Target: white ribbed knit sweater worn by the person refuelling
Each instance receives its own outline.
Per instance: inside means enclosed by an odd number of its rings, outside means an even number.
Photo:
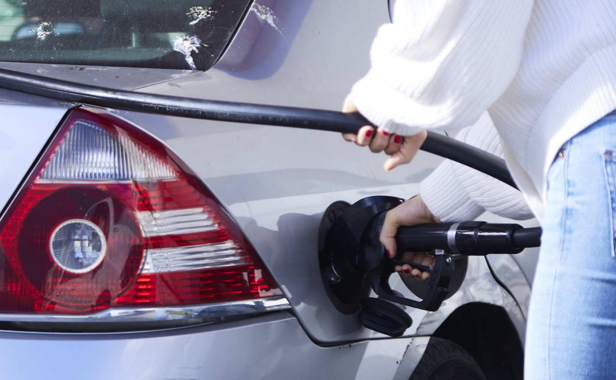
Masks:
[[[470,126],[458,139],[504,155],[541,218],[559,148],[616,108],[616,1],[395,0],[392,7],[394,22],[379,29],[371,69],[352,89],[359,111],[402,135]],[[443,220],[486,209],[530,216],[506,185],[449,161],[422,182],[421,195]]]

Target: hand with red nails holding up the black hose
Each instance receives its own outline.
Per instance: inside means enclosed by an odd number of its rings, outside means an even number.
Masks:
[[[357,107],[351,99],[351,95],[347,95],[342,105],[342,112],[354,113],[357,112]],[[359,132],[355,134],[342,134],[342,137],[354,142],[360,147],[369,147],[371,152],[385,152],[391,157],[385,161],[384,169],[390,171],[396,166],[410,163],[421,144],[426,140],[426,131],[419,132],[416,135],[402,137],[396,134],[389,134],[383,128],[375,129],[371,126],[363,126]]]

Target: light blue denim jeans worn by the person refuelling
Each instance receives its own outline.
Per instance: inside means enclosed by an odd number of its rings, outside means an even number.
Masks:
[[[616,113],[562,147],[548,173],[524,378],[616,378]]]

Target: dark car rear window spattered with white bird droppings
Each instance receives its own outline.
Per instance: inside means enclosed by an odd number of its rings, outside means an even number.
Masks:
[[[0,61],[207,70],[250,0],[0,0]]]

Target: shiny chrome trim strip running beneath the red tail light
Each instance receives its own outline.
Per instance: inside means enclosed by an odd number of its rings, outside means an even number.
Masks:
[[[2,314],[0,321],[15,322],[152,322],[171,320],[220,321],[225,317],[251,315],[291,309],[284,296],[267,297],[246,301],[222,302],[219,304],[187,307],[152,307],[133,309],[108,309],[88,315]]]

